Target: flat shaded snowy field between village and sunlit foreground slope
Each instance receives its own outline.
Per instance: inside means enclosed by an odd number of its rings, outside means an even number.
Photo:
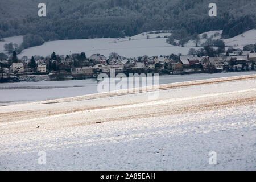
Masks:
[[[164,75],[159,76],[159,84],[170,84],[181,81],[203,80],[208,78],[220,78],[238,75],[250,75],[254,73],[256,72]],[[97,81],[94,79],[16,82],[0,84],[0,106],[93,94],[97,93],[97,85]]]

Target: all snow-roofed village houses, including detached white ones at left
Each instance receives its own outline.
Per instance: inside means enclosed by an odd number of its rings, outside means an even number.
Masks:
[[[90,61],[89,61],[90,60]],[[48,61],[48,62],[47,62]],[[12,63],[10,68],[5,68],[5,73],[46,73],[47,64],[50,60],[37,60],[37,67],[34,70],[28,67],[28,63]],[[180,55],[179,60],[173,60],[169,56],[161,57],[138,57],[129,58],[118,57],[109,59],[100,54],[94,54],[89,59],[84,60],[80,67],[74,67],[73,59],[64,59],[60,61],[50,61],[50,63],[58,64],[60,70],[69,68],[72,77],[74,78],[88,78],[97,77],[100,73],[110,73],[114,69],[116,73],[119,72],[155,72],[169,71],[172,73],[183,73],[189,71],[207,71],[207,69],[214,69],[217,72],[224,70],[240,71],[243,69],[254,69],[256,63],[256,53],[247,53],[247,55],[232,55],[221,57],[198,57],[197,55]],[[94,64],[95,63],[95,64]]]

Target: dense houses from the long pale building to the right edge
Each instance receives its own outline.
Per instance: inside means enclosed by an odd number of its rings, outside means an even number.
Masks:
[[[92,57],[91,57],[92,58]],[[105,57],[104,57],[105,58]],[[109,73],[111,69],[118,72],[144,72],[154,71],[156,67],[159,69],[167,69],[172,73],[182,73],[187,71],[207,71],[214,69],[216,72],[222,72],[226,68],[233,71],[241,71],[247,68],[253,70],[256,63],[256,53],[248,53],[240,56],[222,56],[222,57],[198,57],[197,55],[181,55],[179,61],[174,61],[170,57],[146,57],[138,59],[112,59],[109,64],[100,55],[93,56],[93,59],[101,64],[92,67],[72,68],[73,77],[96,77],[99,73]],[[106,58],[105,58],[106,59]]]

